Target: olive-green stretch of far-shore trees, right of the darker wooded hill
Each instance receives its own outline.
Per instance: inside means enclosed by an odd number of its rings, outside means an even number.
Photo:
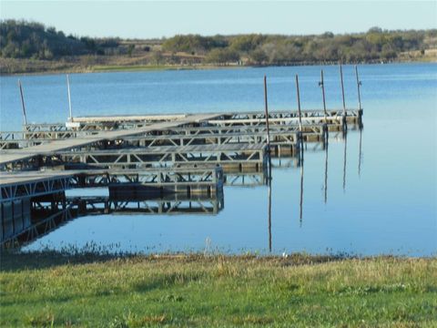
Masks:
[[[170,52],[206,54],[208,62],[245,59],[249,65],[391,61],[401,52],[420,50],[424,53],[435,47],[436,29],[386,31],[380,27],[350,35],[326,32],[313,36],[174,36],[163,43],[163,48]]]

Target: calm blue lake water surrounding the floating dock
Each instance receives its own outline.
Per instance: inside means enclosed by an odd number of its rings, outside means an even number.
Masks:
[[[75,116],[321,108],[321,67],[266,67],[71,75]],[[330,138],[303,167],[272,172],[269,188],[225,187],[217,215],[100,215],[68,222],[25,250],[94,244],[116,251],[219,250],[282,253],[437,253],[437,65],[359,67],[362,133]],[[324,67],[328,108],[341,107],[338,67]],[[346,104],[357,108],[353,67],[343,67]],[[66,121],[64,75],[20,77],[30,122]],[[17,77],[1,77],[0,128],[20,129]],[[332,134],[331,134],[332,135]],[[361,138],[361,157],[360,157]],[[345,147],[346,146],[346,147]],[[309,145],[311,148],[311,145]],[[98,190],[89,190],[93,193]],[[71,194],[74,192],[72,191]]]

